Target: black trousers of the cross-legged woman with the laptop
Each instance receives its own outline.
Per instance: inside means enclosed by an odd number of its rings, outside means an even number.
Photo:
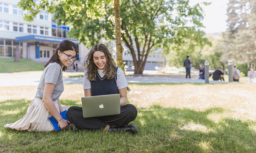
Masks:
[[[115,128],[129,124],[137,117],[137,109],[132,104],[126,104],[120,107],[120,114],[118,115],[84,118],[82,107],[72,106],[68,109],[66,116],[79,129],[98,130],[107,125]]]

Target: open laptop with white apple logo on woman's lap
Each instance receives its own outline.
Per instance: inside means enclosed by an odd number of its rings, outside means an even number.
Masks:
[[[120,114],[120,94],[82,97],[84,118]]]

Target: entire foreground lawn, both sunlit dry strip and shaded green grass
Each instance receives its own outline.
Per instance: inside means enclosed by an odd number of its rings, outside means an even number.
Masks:
[[[129,84],[139,134],[72,129],[5,129],[20,119],[37,86],[0,87],[0,152],[256,152],[255,84]],[[83,84],[60,102],[81,106]]]

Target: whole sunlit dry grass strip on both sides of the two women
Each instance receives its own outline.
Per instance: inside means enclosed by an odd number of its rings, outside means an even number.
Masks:
[[[210,114],[216,122],[224,116],[255,120],[255,84],[177,84],[177,85],[129,85],[128,99],[137,108],[152,105],[189,108],[205,111],[221,107],[230,111]],[[33,100],[37,86],[0,87],[0,101],[8,99]],[[83,84],[65,84],[60,99],[78,100],[84,96]]]

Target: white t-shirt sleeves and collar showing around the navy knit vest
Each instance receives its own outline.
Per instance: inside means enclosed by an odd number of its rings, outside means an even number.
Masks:
[[[98,69],[98,73],[99,73],[100,77],[104,77],[104,75],[105,75],[103,73],[103,70],[100,70],[100,69]],[[121,68],[119,68],[119,67],[117,68],[116,75],[117,75],[117,80],[116,80],[117,88],[123,89],[125,87],[128,87],[127,80],[126,80],[126,78],[124,76],[124,72]],[[91,89],[91,82],[86,77],[87,76],[85,76],[85,72],[84,72],[84,89]]]

